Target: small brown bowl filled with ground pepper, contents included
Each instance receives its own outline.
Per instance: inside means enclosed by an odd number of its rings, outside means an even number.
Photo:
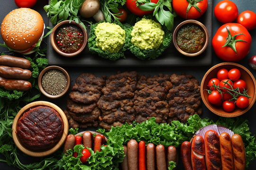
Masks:
[[[39,74],[38,87],[48,98],[62,97],[70,87],[70,76],[64,68],[49,66]]]

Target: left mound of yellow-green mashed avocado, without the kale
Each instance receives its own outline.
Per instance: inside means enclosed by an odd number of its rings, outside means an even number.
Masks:
[[[96,46],[110,53],[119,52],[125,42],[125,30],[119,25],[103,22],[95,28]]]

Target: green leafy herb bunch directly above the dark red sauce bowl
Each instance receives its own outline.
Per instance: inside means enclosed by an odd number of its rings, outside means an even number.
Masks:
[[[64,20],[73,20],[75,23],[79,23],[86,30],[86,26],[80,20],[78,16],[79,8],[82,6],[84,0],[51,0],[50,5],[44,7],[47,12],[47,16],[50,17],[50,21],[53,25],[58,24]]]

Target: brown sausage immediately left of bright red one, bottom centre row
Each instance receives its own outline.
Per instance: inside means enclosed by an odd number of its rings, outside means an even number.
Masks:
[[[136,140],[131,139],[127,143],[127,159],[128,159],[128,169],[138,170],[138,143]]]

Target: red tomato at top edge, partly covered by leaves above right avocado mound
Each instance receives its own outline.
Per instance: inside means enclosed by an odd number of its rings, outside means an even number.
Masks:
[[[137,16],[144,16],[144,15],[147,15],[147,14],[151,14],[154,10],[151,10],[151,11],[144,11],[142,9],[140,9],[139,7],[137,7],[137,4],[136,4],[136,1],[137,0],[127,0],[126,1],[126,7],[129,9],[129,11],[131,11],[133,14],[137,15]],[[151,0],[151,2],[153,3],[157,3],[158,0]]]

